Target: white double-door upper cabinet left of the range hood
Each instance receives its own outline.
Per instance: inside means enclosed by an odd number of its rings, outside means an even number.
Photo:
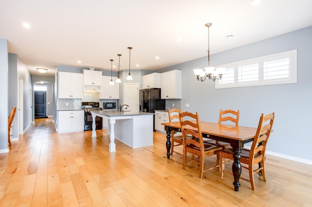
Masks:
[[[73,72],[59,72],[59,99],[82,99],[83,75]]]

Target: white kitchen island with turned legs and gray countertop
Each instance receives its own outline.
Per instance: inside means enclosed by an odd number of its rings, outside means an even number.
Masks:
[[[116,151],[115,138],[132,148],[153,145],[153,113],[91,111],[91,115],[92,137],[97,137],[96,116],[109,120],[110,152]]]

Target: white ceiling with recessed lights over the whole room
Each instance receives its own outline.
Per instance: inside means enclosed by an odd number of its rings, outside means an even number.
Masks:
[[[0,38],[33,75],[53,76],[58,65],[110,70],[117,54],[129,69],[128,47],[131,69],[156,70],[207,56],[208,22],[213,54],[310,26],[311,8],[312,0],[0,0]]]

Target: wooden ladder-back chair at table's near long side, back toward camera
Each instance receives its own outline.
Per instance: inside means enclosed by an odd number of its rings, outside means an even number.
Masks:
[[[204,172],[214,168],[212,167],[209,169],[204,169],[205,156],[216,155],[220,150],[222,150],[222,147],[204,143],[203,136],[201,134],[198,112],[196,112],[196,114],[190,112],[181,112],[179,113],[179,119],[183,137],[182,169],[185,170],[186,160],[195,162],[200,165],[199,177],[202,178]],[[187,136],[192,136],[193,138],[187,139]],[[198,158],[194,159],[188,157],[188,153],[197,155]]]

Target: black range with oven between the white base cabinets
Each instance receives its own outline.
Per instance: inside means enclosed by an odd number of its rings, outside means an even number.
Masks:
[[[92,115],[91,111],[101,111],[103,108],[98,107],[98,102],[82,102],[82,108],[84,109],[84,131],[92,130]],[[96,117],[96,129],[102,129],[102,118]]]

